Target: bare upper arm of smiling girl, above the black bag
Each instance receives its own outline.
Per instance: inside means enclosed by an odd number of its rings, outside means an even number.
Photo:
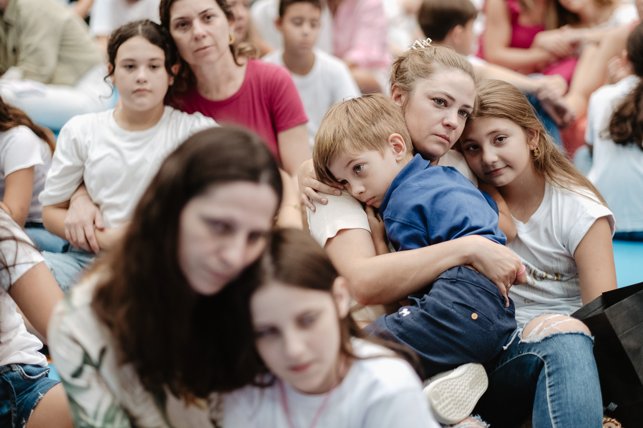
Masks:
[[[581,280],[583,305],[604,291],[617,287],[611,230],[607,218],[597,219],[590,227],[576,247],[574,260]]]

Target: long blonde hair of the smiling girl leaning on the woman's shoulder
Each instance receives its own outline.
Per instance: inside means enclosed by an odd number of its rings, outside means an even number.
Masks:
[[[579,193],[578,187],[587,189],[596,201],[607,206],[601,193],[592,182],[576,169],[574,164],[561,153],[545,126],[539,121],[534,108],[518,88],[502,80],[486,80],[478,88],[478,106],[467,125],[480,117],[502,117],[518,124],[523,129],[538,131],[538,156],[532,158],[534,168],[552,185]]]

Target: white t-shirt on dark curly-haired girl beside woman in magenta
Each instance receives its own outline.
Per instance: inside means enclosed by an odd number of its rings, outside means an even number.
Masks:
[[[118,126],[114,109],[72,117],[60,130],[40,201],[68,201],[84,180],[105,227],[118,227],[131,218],[167,155],[190,135],[212,126],[217,124],[211,117],[168,106],[158,123],[144,131]]]

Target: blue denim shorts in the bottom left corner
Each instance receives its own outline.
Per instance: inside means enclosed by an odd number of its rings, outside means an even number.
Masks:
[[[57,383],[49,378],[49,366],[1,366],[0,427],[23,428],[42,396]]]

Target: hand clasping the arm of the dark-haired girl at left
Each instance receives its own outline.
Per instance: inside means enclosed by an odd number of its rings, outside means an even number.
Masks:
[[[96,229],[104,230],[105,223],[103,214],[89,198],[89,194],[81,194],[73,199],[69,204],[64,225],[65,239],[70,244],[89,252],[100,251],[94,225]]]

